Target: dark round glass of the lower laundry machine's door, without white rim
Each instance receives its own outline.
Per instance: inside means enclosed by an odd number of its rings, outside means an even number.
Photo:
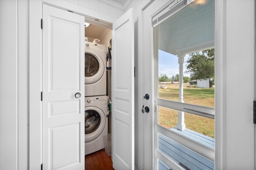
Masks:
[[[100,114],[95,110],[86,110],[84,113],[84,133],[93,133],[100,126]]]

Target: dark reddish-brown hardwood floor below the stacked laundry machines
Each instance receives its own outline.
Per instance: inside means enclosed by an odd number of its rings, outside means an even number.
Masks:
[[[85,170],[114,170],[111,156],[108,156],[104,149],[87,154],[84,163]]]

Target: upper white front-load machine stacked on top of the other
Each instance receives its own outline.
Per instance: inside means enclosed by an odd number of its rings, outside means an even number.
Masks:
[[[86,96],[106,95],[106,46],[85,42],[84,92]]]

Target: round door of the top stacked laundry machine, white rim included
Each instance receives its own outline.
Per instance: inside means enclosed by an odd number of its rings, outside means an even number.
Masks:
[[[84,83],[92,84],[100,80],[104,74],[104,62],[100,55],[91,50],[85,50]]]

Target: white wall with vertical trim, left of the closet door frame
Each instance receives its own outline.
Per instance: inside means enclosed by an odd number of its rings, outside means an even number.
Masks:
[[[28,0],[0,0],[0,37],[0,169],[22,170],[28,164]]]

